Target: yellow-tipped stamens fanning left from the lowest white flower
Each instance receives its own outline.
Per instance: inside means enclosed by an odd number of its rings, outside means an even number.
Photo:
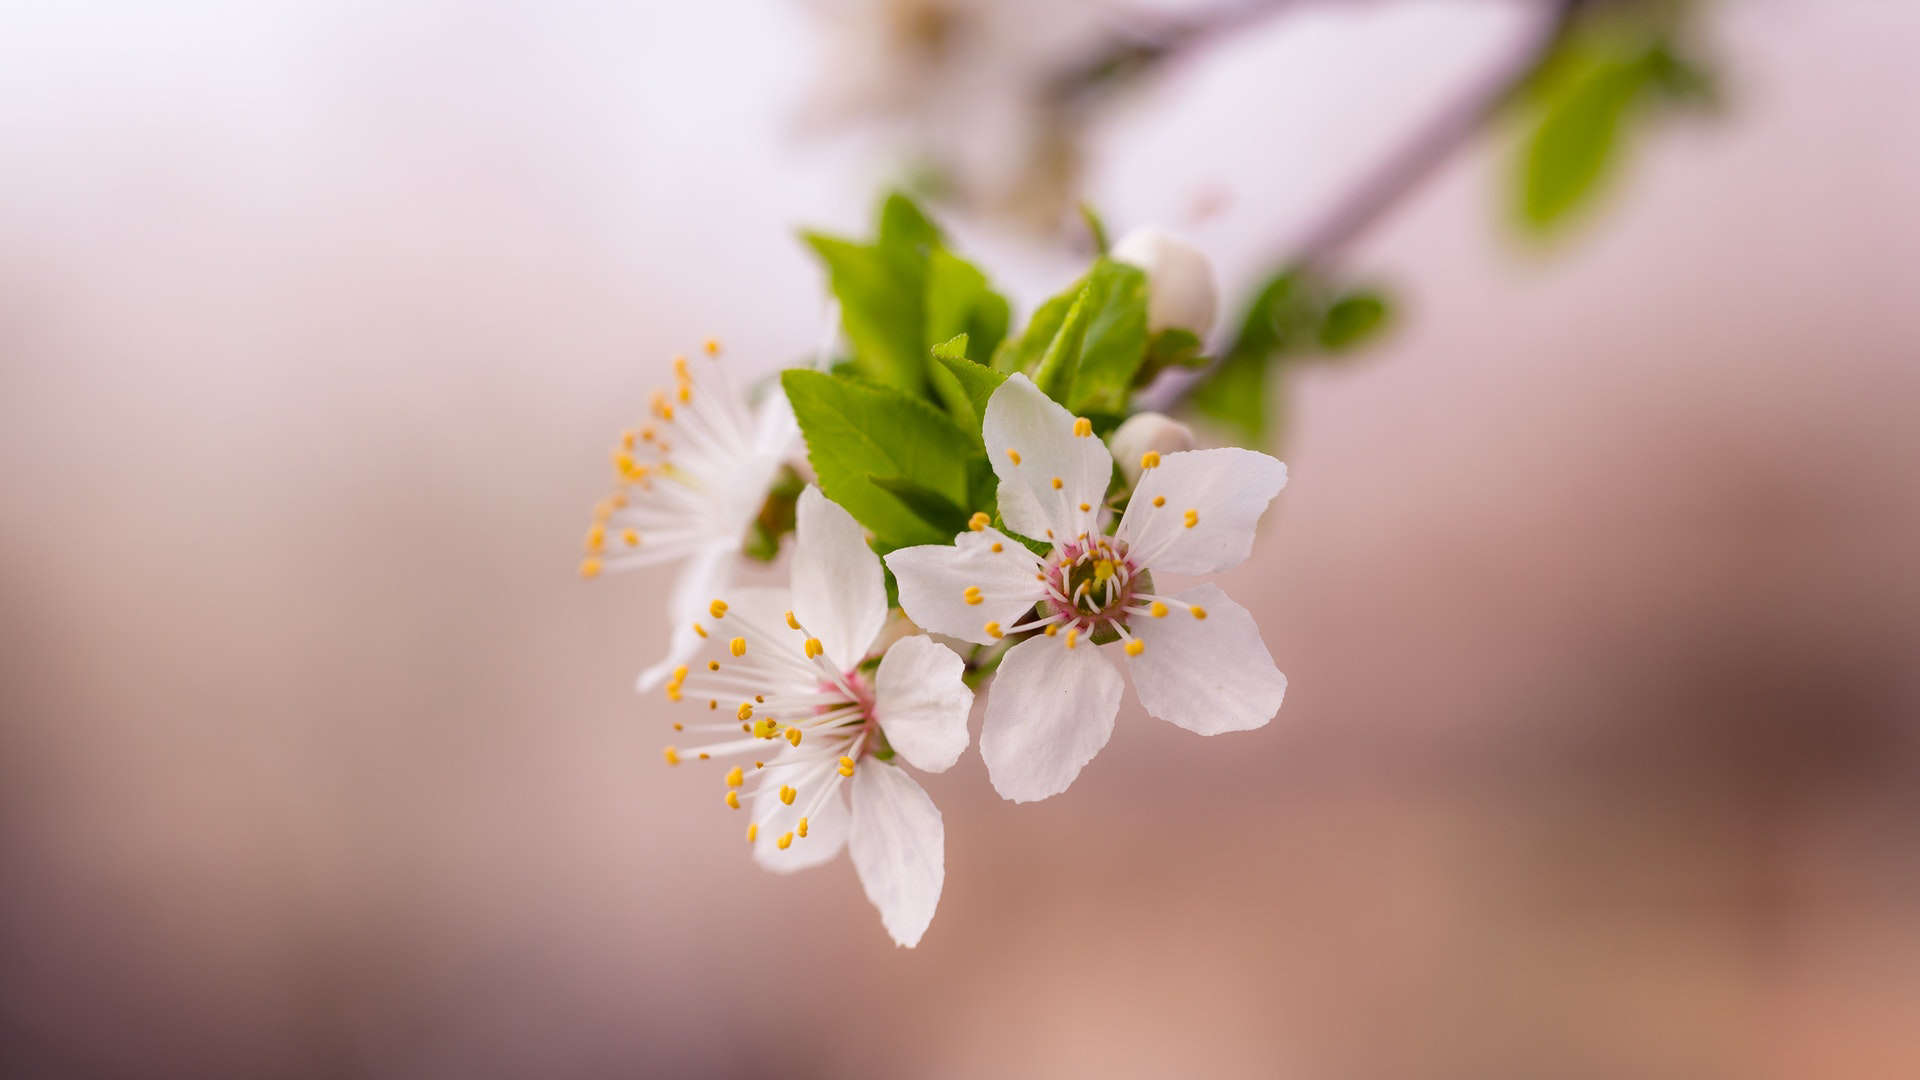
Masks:
[[[795,805],[804,792],[808,801],[793,830],[774,844],[785,851],[797,838],[804,840],[808,819],[851,780],[856,763],[885,748],[874,717],[872,686],[858,671],[839,671],[820,644],[806,632],[793,611],[785,626],[768,626],[749,615],[730,609],[726,601],[708,605],[714,630],[695,623],[701,638],[718,636],[724,628],[728,659],[708,659],[701,669],[682,665],[666,682],[668,701],[705,701],[708,713],[720,713],[724,701],[737,701],[733,719],[707,723],[674,723],[676,732],[739,732],[739,738],[664,751],[668,765],[680,765],[687,755],[708,761],[714,757],[753,757],[766,751],[774,740],[785,740],[787,751],[768,761],[753,761],[749,773],[735,765],[726,774],[726,805],[739,809],[741,790],[778,784],[783,805]],[[760,838],[760,824],[747,826],[747,842]]]

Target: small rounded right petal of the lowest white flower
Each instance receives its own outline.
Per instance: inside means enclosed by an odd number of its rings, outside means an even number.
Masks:
[[[966,753],[973,690],[966,661],[927,636],[900,638],[874,675],[874,715],[893,749],[914,769],[945,773]]]

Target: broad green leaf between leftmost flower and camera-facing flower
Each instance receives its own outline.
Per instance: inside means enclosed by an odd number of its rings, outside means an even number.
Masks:
[[[883,548],[945,544],[952,532],[922,519],[872,477],[893,477],[966,505],[979,448],[920,398],[820,371],[781,373],[820,490],[874,530]]]

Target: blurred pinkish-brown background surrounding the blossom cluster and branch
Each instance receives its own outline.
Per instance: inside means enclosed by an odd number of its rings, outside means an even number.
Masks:
[[[931,778],[900,951],[660,767],[666,577],[574,575],[674,352],[820,340],[866,8],[0,4],[6,1072],[1920,1074],[1920,13],[1720,4],[1563,242],[1496,131],[1350,250],[1398,327],[1223,582],[1281,717]],[[1083,190],[1238,302],[1523,8],[1235,33]],[[1083,258],[948,223],[1021,311]]]

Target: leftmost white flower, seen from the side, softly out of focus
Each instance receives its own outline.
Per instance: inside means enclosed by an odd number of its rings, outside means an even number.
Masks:
[[[785,394],[756,409],[733,390],[720,344],[701,350],[699,373],[674,357],[674,390],[655,390],[651,415],[620,432],[612,452],[614,492],[593,507],[580,577],[678,563],[668,598],[676,626],[666,657],[639,675],[659,686],[699,646],[693,619],[733,578],[747,532],[768,486],[793,454],[799,427]]]

